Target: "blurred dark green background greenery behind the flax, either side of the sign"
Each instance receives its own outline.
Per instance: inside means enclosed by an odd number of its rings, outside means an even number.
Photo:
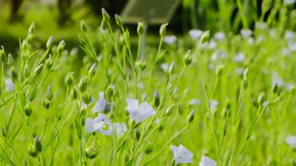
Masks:
[[[97,34],[97,27],[101,23],[101,8],[105,8],[112,17],[120,14],[127,2],[128,0],[0,0],[0,45],[9,52],[16,53],[19,38],[26,36],[28,27],[35,21],[35,38],[39,41],[35,43],[37,48],[45,46],[50,35],[54,36],[55,43],[65,40],[67,48],[77,47],[81,19],[89,24],[93,34]],[[286,3],[292,5],[282,8]],[[238,33],[242,28],[253,29],[258,21],[265,21],[268,26],[281,25],[282,30],[295,30],[295,8],[295,0],[180,0],[177,10],[169,20],[168,34],[183,35],[190,29],[210,30],[212,34],[220,31]],[[136,29],[136,25],[126,26],[131,29],[130,32],[136,32],[132,30]],[[159,25],[148,27],[148,44],[158,42],[158,30]],[[134,37],[135,40],[131,42],[136,43],[136,35]]]

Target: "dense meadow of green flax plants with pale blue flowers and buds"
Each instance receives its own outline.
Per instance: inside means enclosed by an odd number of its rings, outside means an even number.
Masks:
[[[72,50],[54,34],[37,50],[34,22],[17,55],[1,47],[0,166],[296,165],[294,32],[261,21],[177,38],[163,24],[142,55],[143,22],[132,48],[102,15]]]

